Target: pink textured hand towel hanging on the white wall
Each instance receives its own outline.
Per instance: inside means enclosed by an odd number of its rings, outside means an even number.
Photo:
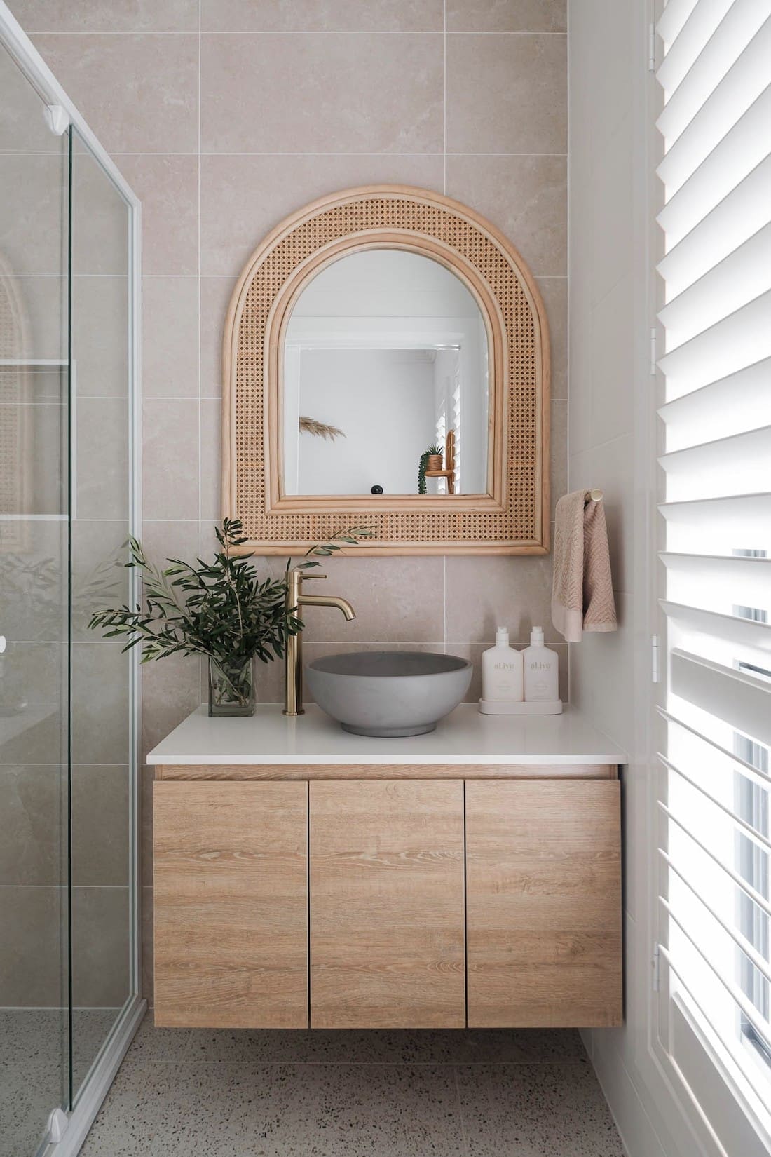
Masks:
[[[554,532],[551,621],[569,643],[585,631],[615,631],[605,506],[573,491],[557,502]]]

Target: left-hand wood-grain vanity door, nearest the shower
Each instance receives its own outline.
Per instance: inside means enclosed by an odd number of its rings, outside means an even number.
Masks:
[[[155,1023],[307,1027],[307,783],[160,782]]]

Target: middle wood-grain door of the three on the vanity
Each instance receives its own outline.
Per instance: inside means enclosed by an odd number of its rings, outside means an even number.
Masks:
[[[462,782],[313,782],[310,824],[311,1027],[464,1027]]]

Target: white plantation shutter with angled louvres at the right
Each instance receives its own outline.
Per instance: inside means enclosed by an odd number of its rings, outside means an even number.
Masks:
[[[669,0],[657,32],[659,1041],[749,1157],[771,1137],[771,0]]]

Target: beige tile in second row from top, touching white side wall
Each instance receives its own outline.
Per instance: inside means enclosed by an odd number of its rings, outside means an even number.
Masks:
[[[565,40],[447,37],[447,150],[565,153]]]

